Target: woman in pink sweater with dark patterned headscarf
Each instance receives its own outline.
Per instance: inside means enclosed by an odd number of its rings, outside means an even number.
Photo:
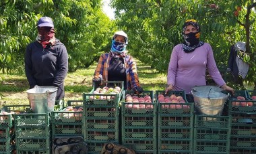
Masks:
[[[185,90],[191,93],[194,86],[206,85],[206,68],[216,84],[234,94],[233,88],[224,82],[210,44],[199,41],[200,27],[194,19],[185,21],[183,25],[183,44],[174,46],[168,66],[166,92],[169,90]]]

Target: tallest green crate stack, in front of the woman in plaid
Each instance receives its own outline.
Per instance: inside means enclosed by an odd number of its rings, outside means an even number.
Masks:
[[[108,92],[94,92],[97,88],[108,89]],[[100,86],[94,85],[92,92],[83,94],[83,135],[88,144],[88,153],[100,153],[104,143],[119,143],[119,103],[122,96],[123,82],[121,81],[108,81]]]

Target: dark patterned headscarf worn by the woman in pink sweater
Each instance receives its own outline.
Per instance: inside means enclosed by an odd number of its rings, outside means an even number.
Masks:
[[[185,34],[185,30],[188,25],[193,25],[197,29],[197,32],[195,33],[191,32],[191,33]],[[193,52],[196,48],[203,46],[204,42],[199,41],[200,31],[201,31],[200,26],[195,19],[189,19],[185,21],[185,23],[183,24],[183,31],[182,31],[182,35],[184,38],[183,50],[185,52],[187,53]]]

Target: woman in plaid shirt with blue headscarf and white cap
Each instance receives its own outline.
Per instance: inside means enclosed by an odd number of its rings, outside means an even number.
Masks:
[[[102,81],[123,81],[124,89],[143,92],[139,84],[135,60],[127,54],[128,37],[124,31],[117,31],[113,35],[111,50],[102,54],[98,60],[94,78],[96,84]]]

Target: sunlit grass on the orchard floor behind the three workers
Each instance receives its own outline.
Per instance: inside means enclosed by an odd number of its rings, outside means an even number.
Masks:
[[[84,92],[92,90],[92,77],[96,63],[86,69],[68,73],[65,78],[65,102],[67,100],[82,100]],[[143,90],[164,90],[166,86],[166,74],[160,74],[137,61],[139,82]],[[25,75],[0,73],[0,105],[5,104],[29,104],[26,90],[29,85]]]

